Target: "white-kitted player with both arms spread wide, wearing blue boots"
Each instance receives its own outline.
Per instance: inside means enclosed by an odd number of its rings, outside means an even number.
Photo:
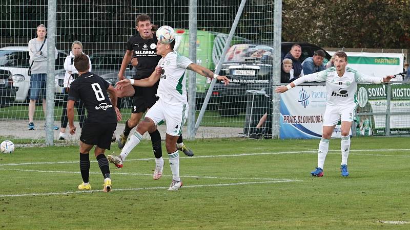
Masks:
[[[335,53],[335,66],[327,70],[308,74],[300,77],[292,83],[276,87],[276,93],[285,91],[303,82],[326,82],[327,102],[323,114],[323,134],[318,149],[318,167],[312,171],[312,176],[323,176],[324,159],[329,150],[329,140],[335,126],[341,121],[342,141],[340,148],[342,152],[341,175],[348,176],[347,157],[350,150],[350,128],[356,111],[356,88],[357,83],[381,84],[389,82],[394,76],[376,78],[365,76],[353,70],[347,65],[347,55],[344,52]]]

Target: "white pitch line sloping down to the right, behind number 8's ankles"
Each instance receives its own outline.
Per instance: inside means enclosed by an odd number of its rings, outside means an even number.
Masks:
[[[39,173],[74,173],[74,174],[79,174],[79,171],[45,171],[45,170],[28,170],[28,169],[2,169],[0,170],[6,170],[6,171],[19,171],[19,172],[39,172]],[[118,175],[128,175],[128,176],[150,176],[152,177],[152,173],[122,173],[122,172],[111,172],[111,174],[118,174]],[[101,174],[101,172],[90,172],[90,174]],[[166,177],[172,177],[172,175],[162,175]],[[249,178],[238,178],[238,177],[218,177],[218,176],[190,176],[190,175],[181,175],[181,177],[188,177],[188,178],[205,178],[205,179],[232,179],[232,180],[269,180],[269,181],[277,181],[277,180],[291,180],[288,178],[254,178],[254,177],[249,177]]]

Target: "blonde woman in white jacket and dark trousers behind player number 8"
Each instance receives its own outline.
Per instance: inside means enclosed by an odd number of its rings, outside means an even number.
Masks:
[[[58,136],[59,140],[64,140],[66,138],[66,128],[67,128],[67,101],[68,101],[68,92],[70,89],[70,84],[76,78],[79,77],[78,71],[75,69],[74,66],[74,57],[78,56],[83,53],[83,43],[80,41],[74,41],[71,44],[71,51],[70,55],[66,57],[64,61],[64,70],[66,70],[66,75],[64,76],[64,89],[63,89],[63,111],[61,112],[61,130]],[[86,55],[89,60],[90,70],[91,71],[91,60],[88,55]],[[76,101],[74,103],[75,107],[77,107],[77,114],[78,114],[78,121],[80,123],[80,128],[83,128],[84,120],[86,119],[86,110],[84,108],[83,101]]]

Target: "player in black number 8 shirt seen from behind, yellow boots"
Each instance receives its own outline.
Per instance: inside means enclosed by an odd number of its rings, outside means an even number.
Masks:
[[[68,96],[67,116],[71,135],[76,130],[74,103],[79,100],[83,101],[88,113],[80,136],[80,171],[83,183],[78,186],[78,189],[91,190],[88,179],[90,171],[89,152],[96,145],[94,155],[104,176],[103,191],[110,192],[110,168],[104,152],[106,149],[110,149],[112,134],[117,126],[117,121],[121,120],[121,113],[116,107],[116,90],[100,76],[88,72],[90,66],[87,55],[76,56],[74,66],[80,77],[71,83]],[[110,98],[107,91],[110,93]]]

